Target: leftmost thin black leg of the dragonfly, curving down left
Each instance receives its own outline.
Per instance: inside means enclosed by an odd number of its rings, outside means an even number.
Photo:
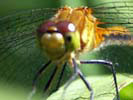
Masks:
[[[42,72],[45,70],[45,68],[47,68],[47,66],[48,66],[50,63],[51,63],[51,61],[48,61],[45,65],[43,65],[43,66],[38,70],[38,72],[36,73],[36,75],[34,76],[33,81],[32,81],[32,87],[33,87],[33,89],[36,88],[37,79],[39,78],[39,76],[42,74]]]

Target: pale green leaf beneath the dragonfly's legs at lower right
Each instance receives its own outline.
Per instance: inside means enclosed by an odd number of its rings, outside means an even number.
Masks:
[[[89,76],[86,78],[94,90],[94,100],[113,100],[115,97],[115,89],[113,87],[113,82],[110,75],[101,75],[101,76]],[[124,81],[131,81],[132,78],[118,74],[118,85],[122,84]],[[57,92],[53,93],[47,100],[89,100],[90,92],[81,81],[78,79],[65,90],[64,86],[61,87]],[[131,90],[133,92],[133,89]],[[124,99],[125,100],[125,99]]]

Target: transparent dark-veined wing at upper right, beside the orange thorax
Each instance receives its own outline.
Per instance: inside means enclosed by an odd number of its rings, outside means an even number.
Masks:
[[[118,0],[103,2],[92,6],[94,15],[100,21],[107,22],[106,26],[125,26],[133,32],[133,1]]]

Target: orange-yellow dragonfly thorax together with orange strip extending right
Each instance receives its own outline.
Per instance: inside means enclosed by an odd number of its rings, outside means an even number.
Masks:
[[[129,33],[128,30],[122,26],[109,28],[98,27],[99,24],[105,23],[95,18],[92,15],[92,9],[87,7],[61,8],[53,20],[55,22],[68,20],[76,26],[77,31],[80,33],[80,52],[89,51],[98,47],[105,39],[103,35]]]

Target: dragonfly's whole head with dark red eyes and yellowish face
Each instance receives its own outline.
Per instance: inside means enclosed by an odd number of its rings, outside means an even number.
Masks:
[[[38,29],[41,47],[51,59],[80,48],[80,36],[74,24],[68,21],[44,22]]]

